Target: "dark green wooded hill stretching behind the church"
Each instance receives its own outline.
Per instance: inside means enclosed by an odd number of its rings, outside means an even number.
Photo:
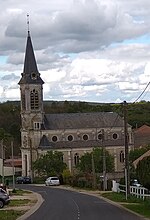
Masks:
[[[123,116],[123,103],[90,103],[74,101],[44,101],[45,113],[117,112]],[[150,102],[128,103],[128,123],[133,128],[150,126]],[[6,157],[11,155],[10,136],[14,139],[14,154],[20,154],[20,101],[0,103],[0,140],[4,139]]]

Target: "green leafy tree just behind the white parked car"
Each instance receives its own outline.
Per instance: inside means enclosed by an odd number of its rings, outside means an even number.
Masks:
[[[63,153],[48,151],[33,163],[33,168],[41,176],[60,175],[67,167],[62,158]]]

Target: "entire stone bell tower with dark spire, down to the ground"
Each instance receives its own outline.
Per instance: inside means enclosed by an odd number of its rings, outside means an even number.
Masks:
[[[29,24],[29,23],[28,23]],[[24,69],[19,81],[21,95],[21,154],[22,175],[32,177],[32,161],[36,159],[36,149],[44,120],[43,80],[37,68],[28,29]]]

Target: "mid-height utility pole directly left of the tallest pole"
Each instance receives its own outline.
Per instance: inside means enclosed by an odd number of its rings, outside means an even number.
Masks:
[[[103,150],[103,190],[105,191],[107,188],[107,180],[106,180],[106,150],[105,150],[105,136],[104,129],[102,129],[102,150]]]

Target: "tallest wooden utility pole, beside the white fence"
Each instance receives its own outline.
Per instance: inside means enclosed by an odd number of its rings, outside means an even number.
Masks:
[[[124,101],[124,145],[125,145],[125,185],[126,200],[130,195],[130,175],[129,175],[129,146],[128,146],[128,124],[127,124],[127,103]]]

